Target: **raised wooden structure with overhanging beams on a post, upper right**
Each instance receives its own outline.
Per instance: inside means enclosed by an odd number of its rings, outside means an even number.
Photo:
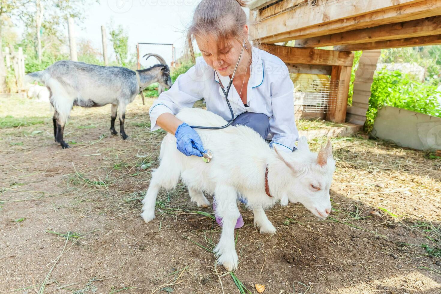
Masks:
[[[250,22],[255,23],[250,35],[287,63],[290,71],[331,70],[339,90],[327,119],[335,122],[346,120],[351,51],[441,44],[440,0],[254,0],[249,7]],[[284,46],[293,40],[295,47]],[[316,49],[326,46],[333,50]],[[374,55],[365,57],[372,63]],[[367,74],[370,79],[372,74]],[[370,87],[366,81],[369,78],[357,87]],[[350,109],[366,113],[364,106]]]

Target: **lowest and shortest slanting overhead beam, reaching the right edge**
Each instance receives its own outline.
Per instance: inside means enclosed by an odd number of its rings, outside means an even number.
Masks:
[[[376,41],[352,45],[335,46],[337,51],[356,51],[356,50],[373,50],[385,48],[401,48],[401,47],[416,47],[428,45],[441,45],[441,35],[413,37],[390,41]]]

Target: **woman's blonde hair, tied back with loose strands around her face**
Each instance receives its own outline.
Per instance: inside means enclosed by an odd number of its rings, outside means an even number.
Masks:
[[[242,44],[245,39],[244,51],[251,56],[251,43],[243,26],[247,23],[247,15],[242,7],[247,7],[248,1],[244,0],[202,0],[194,10],[193,20],[187,29],[187,44],[185,52],[190,53],[191,61],[195,63],[193,40],[199,37],[202,40],[209,36],[217,40],[217,56],[221,48],[226,46],[226,41],[236,39]],[[258,41],[254,41],[254,47],[260,47]],[[218,60],[219,61],[219,60]]]

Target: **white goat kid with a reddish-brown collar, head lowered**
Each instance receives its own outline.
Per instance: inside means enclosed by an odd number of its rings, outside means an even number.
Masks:
[[[197,108],[185,108],[176,117],[190,125],[222,126],[221,116]],[[299,141],[293,153],[271,149],[262,137],[249,127],[237,125],[222,130],[195,129],[203,146],[213,152],[205,163],[197,156],[185,156],[176,149],[176,138],[167,134],[161,143],[159,167],[144,198],[142,218],[148,223],[155,217],[156,197],[161,189],[172,189],[179,178],[187,185],[191,200],[198,206],[209,205],[203,192],[214,194],[216,215],[223,219],[222,233],[214,252],[218,264],[231,271],[237,268],[234,227],[239,217],[237,197],[247,200],[254,214],[254,225],[261,233],[274,234],[276,228],[265,215],[265,209],[277,201],[300,202],[314,215],[324,218],[331,211],[329,187],[335,169],[331,143],[312,153],[306,138]],[[265,171],[269,195],[265,193]]]

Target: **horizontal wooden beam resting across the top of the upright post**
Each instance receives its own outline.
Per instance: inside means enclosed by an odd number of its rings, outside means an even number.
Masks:
[[[284,63],[313,65],[352,66],[354,53],[313,48],[296,48],[273,44],[261,44],[265,50],[283,60]]]

